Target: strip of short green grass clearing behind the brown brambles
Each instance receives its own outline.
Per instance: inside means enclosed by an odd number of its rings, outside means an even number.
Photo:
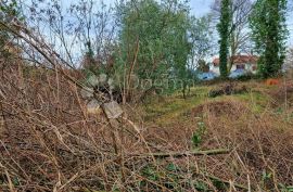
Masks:
[[[171,125],[175,121],[186,120],[184,115],[192,108],[213,101],[229,101],[234,100],[239,102],[247,103],[251,110],[255,113],[262,113],[269,105],[270,97],[266,93],[273,87],[259,87],[259,84],[249,82],[246,86],[251,87],[247,93],[221,95],[217,98],[209,98],[208,92],[217,86],[201,86],[192,88],[190,95],[184,100],[180,92],[173,95],[168,95],[161,100],[149,99],[145,110],[145,120],[153,121],[158,126]]]

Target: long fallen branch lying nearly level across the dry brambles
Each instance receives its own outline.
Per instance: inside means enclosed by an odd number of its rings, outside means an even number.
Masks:
[[[190,151],[190,152],[169,152],[169,153],[151,153],[151,154],[138,154],[135,156],[138,157],[156,157],[156,158],[167,158],[167,157],[176,157],[180,158],[183,156],[202,156],[202,155],[220,155],[228,154],[230,150],[227,149],[217,149],[217,150],[207,150],[207,151]]]

